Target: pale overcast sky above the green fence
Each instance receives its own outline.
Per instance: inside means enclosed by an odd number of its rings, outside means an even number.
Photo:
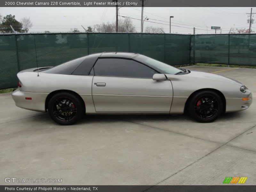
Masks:
[[[171,32],[178,34],[214,34],[211,26],[221,27],[219,34],[228,33],[230,28],[249,28],[247,20],[251,7],[144,7],[144,29],[147,26],[161,27],[165,33],[170,32],[170,16],[172,18]],[[256,12],[256,7],[252,7]],[[102,22],[115,22],[115,7],[0,7],[0,14],[15,15],[16,20],[22,17],[30,17],[33,27],[29,32],[67,32],[71,28],[78,28],[81,32],[88,26]],[[140,32],[141,7],[122,7],[119,14],[131,17]],[[256,20],[256,14],[253,15]],[[119,17],[122,19],[122,17]],[[153,23],[157,22],[157,23]],[[160,24],[161,23],[161,24]],[[256,31],[256,23],[252,24],[252,30]]]

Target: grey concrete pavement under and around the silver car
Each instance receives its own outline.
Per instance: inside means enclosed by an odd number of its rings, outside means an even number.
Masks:
[[[255,99],[256,69],[187,68],[234,78]],[[122,115],[60,126],[16,107],[9,93],[0,94],[0,105],[0,185],[13,184],[6,177],[62,179],[40,185],[221,185],[228,176],[256,184],[255,101],[209,124],[186,115]]]

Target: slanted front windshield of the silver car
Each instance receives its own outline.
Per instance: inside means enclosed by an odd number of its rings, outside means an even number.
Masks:
[[[175,75],[176,73],[183,72],[181,69],[172,67],[166,63],[163,63],[161,61],[152,59],[152,58],[144,56],[144,55],[139,55],[138,57],[135,58],[135,60],[138,60],[141,63],[144,63],[144,64],[148,65],[149,67],[152,67],[152,68],[158,70],[161,73]]]

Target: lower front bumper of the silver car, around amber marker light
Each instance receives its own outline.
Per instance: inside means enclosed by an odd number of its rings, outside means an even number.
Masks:
[[[226,98],[226,112],[242,111],[248,109],[252,104],[252,93],[246,97],[250,97],[250,100],[243,101],[242,98]]]

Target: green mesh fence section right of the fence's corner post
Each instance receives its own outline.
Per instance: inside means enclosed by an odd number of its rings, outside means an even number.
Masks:
[[[191,63],[256,66],[256,34],[191,36]]]

